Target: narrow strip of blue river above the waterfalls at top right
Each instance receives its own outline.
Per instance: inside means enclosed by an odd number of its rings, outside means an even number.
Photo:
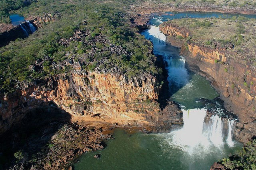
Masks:
[[[171,14],[171,15],[170,15]],[[179,18],[231,18],[232,16],[242,16],[246,18],[256,18],[256,15],[245,15],[245,14],[223,14],[220,12],[166,12],[166,15],[153,15],[152,20],[150,20],[150,25],[158,26],[157,19],[162,22],[166,22],[168,20],[179,19]]]

